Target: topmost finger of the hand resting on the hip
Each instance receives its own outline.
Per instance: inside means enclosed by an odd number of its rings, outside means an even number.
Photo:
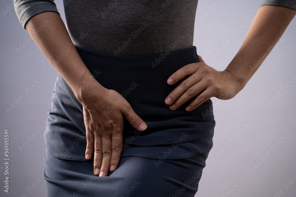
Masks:
[[[169,85],[175,84],[179,80],[183,79],[185,76],[192,75],[198,70],[198,63],[187,64],[182,68],[174,72],[169,78],[167,83]]]

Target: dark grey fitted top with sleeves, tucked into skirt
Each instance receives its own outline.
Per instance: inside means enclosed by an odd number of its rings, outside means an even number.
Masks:
[[[155,55],[193,45],[198,0],[63,0],[67,30],[75,46],[115,55]],[[14,0],[25,28],[41,12],[58,12],[54,0]],[[296,0],[263,0],[296,10]]]

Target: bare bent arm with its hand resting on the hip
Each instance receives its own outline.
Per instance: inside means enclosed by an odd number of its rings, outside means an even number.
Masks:
[[[187,111],[192,111],[211,97],[233,98],[262,64],[258,60],[266,58],[295,14],[296,10],[283,6],[261,6],[241,48],[227,68],[217,71],[205,64],[201,57],[199,63],[183,66],[168,78],[168,84],[190,76],[168,95],[166,104],[176,110],[197,96],[186,106]]]

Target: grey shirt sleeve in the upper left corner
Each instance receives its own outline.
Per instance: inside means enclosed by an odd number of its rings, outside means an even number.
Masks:
[[[15,13],[24,29],[28,20],[42,12],[58,12],[54,0],[14,0]],[[60,14],[59,14],[60,15]]]

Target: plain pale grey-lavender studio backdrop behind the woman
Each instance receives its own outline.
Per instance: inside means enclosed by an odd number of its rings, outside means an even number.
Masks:
[[[54,2],[65,22],[63,2]],[[40,197],[46,196],[44,127],[57,71],[22,28],[15,10],[9,9],[11,3],[11,0],[0,3],[0,196],[25,193]],[[261,3],[199,1],[193,45],[206,64],[220,71],[226,68],[242,45]],[[279,45],[234,98],[212,98],[216,120],[213,148],[196,196],[295,197],[295,32],[293,19]],[[26,40],[28,44],[17,51],[15,48]],[[227,48],[226,42],[230,43]],[[33,84],[34,80],[38,84]],[[26,88],[30,92],[23,91]],[[5,108],[20,95],[23,99],[7,113]],[[9,193],[3,187],[4,129],[9,129]],[[26,140],[30,143],[20,149]]]

